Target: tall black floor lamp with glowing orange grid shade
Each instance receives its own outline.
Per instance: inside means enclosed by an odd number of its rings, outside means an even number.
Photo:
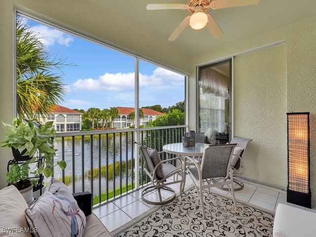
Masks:
[[[287,113],[287,202],[311,208],[310,113]]]

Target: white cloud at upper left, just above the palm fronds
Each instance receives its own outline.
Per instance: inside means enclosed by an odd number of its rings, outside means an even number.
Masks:
[[[74,41],[70,35],[44,25],[34,26],[32,31],[38,33],[37,37],[40,37],[40,41],[46,46],[52,46],[55,43],[69,46]]]

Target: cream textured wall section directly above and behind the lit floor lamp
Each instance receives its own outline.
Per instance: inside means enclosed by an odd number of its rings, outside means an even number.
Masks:
[[[288,27],[287,112],[310,112],[311,189],[316,200],[316,18]]]

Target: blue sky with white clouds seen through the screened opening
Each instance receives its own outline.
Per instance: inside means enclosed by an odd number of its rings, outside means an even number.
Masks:
[[[134,107],[134,57],[31,20],[29,25],[54,57],[76,65],[63,68],[67,93],[60,105],[84,110]],[[139,68],[140,107],[184,101],[183,75],[145,61]]]

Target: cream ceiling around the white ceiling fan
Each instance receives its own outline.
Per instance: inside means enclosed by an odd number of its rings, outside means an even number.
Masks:
[[[221,47],[250,36],[262,34],[316,16],[315,0],[261,0],[258,5],[212,10],[224,32],[214,40],[206,28],[193,30],[187,26],[175,41],[169,36],[180,22],[191,15],[188,10],[147,10],[148,3],[188,3],[187,0],[89,0],[91,4],[113,12],[140,30],[171,44],[188,56],[195,56],[212,48]]]

